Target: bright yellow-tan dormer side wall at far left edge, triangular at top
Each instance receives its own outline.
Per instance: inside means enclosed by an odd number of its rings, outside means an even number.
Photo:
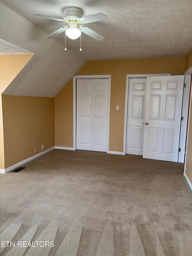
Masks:
[[[34,54],[0,55],[0,169],[4,169],[4,137],[1,93]]]

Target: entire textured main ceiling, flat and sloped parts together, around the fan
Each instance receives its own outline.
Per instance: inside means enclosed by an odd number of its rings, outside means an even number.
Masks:
[[[3,40],[35,53],[6,89],[13,95],[54,97],[87,60],[143,59],[186,56],[192,48],[191,0],[1,0],[0,35]],[[103,12],[109,20],[86,26],[103,35],[96,41],[64,33],[46,36],[62,24],[32,16],[41,13],[63,18],[64,7],[79,7],[83,16]],[[7,8],[8,7],[8,8]],[[9,9],[11,8],[11,9]]]

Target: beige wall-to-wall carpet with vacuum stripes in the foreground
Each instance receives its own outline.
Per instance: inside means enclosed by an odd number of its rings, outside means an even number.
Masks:
[[[24,166],[0,175],[0,241],[54,247],[6,245],[0,255],[192,255],[184,164],[54,149]]]

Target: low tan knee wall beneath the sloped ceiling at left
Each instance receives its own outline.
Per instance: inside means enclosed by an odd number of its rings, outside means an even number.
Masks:
[[[55,146],[54,98],[2,95],[5,168]]]

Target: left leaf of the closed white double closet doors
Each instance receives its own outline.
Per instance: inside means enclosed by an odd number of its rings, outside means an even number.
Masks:
[[[76,87],[76,149],[91,150],[92,79],[77,79]]]

